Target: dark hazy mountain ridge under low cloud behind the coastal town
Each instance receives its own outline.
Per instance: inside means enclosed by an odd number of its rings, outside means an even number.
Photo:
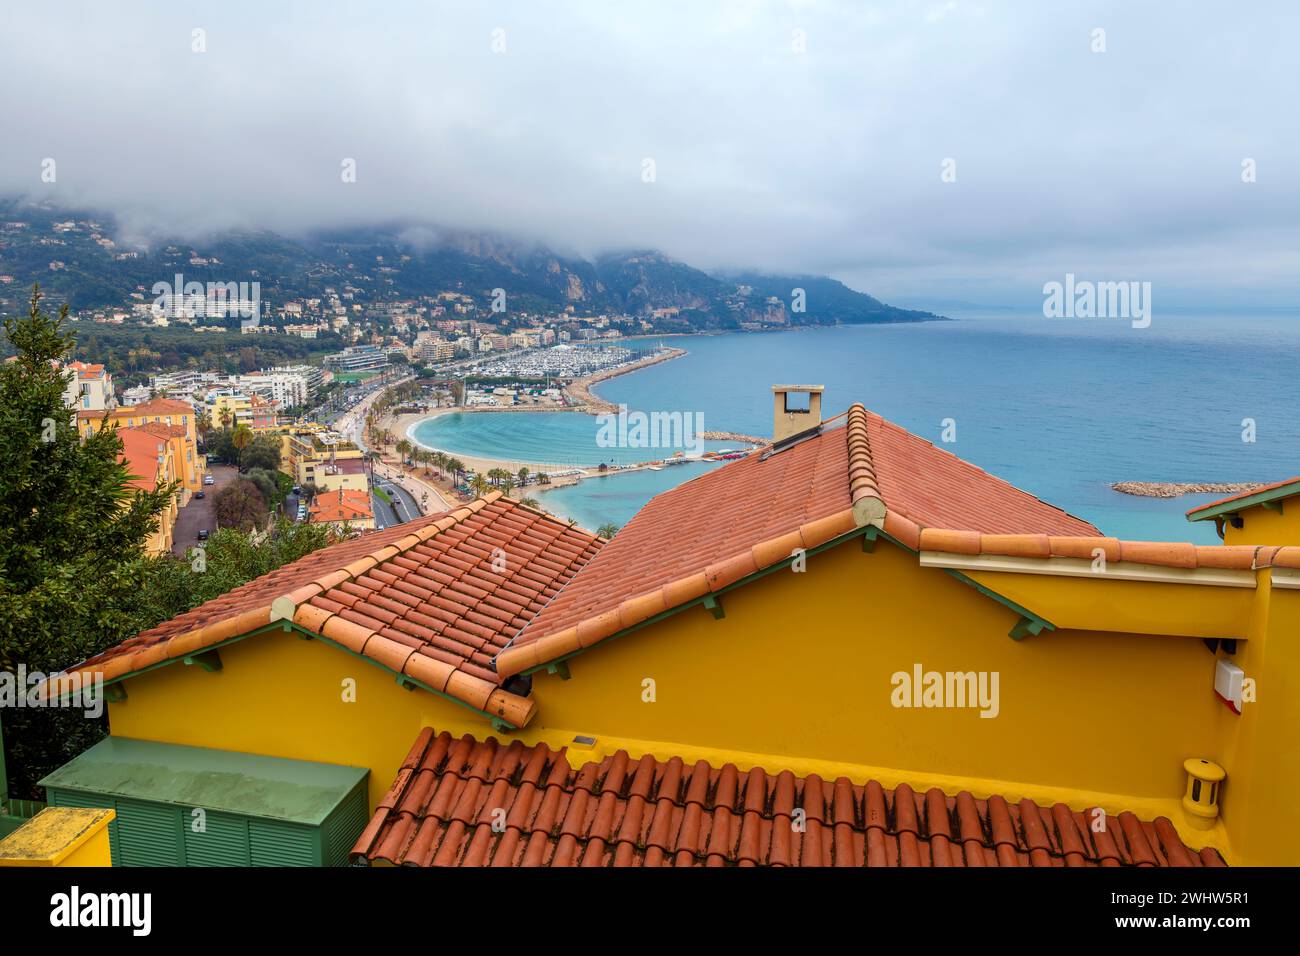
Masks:
[[[133,294],[152,299],[153,284],[179,273],[186,281],[257,281],[272,308],[346,286],[363,302],[459,293],[482,308],[504,289],[512,312],[621,312],[666,332],[944,319],[888,306],[826,276],[708,272],[651,248],[586,259],[537,239],[428,222],[303,235],[231,230],[202,241],[122,235],[108,213],[0,199],[0,311],[21,306],[34,282],[52,303],[110,308]]]

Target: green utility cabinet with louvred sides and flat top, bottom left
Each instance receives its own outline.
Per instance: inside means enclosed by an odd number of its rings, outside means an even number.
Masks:
[[[342,866],[364,767],[107,737],[40,780],[51,806],[117,810],[114,866]]]

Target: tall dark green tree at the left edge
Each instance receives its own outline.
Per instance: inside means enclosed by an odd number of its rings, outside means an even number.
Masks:
[[[68,310],[51,317],[34,289],[23,319],[4,323],[16,351],[0,363],[0,669],[53,672],[135,633],[144,542],[176,485],[127,484],[114,428],[81,441],[56,367],[70,352]],[[5,714],[10,793],[103,736],[83,710]]]

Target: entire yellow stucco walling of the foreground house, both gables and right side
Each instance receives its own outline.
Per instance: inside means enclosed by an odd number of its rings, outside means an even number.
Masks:
[[[1052,580],[1037,587],[1049,600]],[[890,544],[867,554],[854,541],[812,555],[803,574],[728,593],[720,620],[692,607],[572,658],[571,680],[536,674],[538,714],[512,736],[552,747],[597,737],[594,750],[571,752],[576,765],[625,747],[1131,809],[1170,817],[1188,844],[1217,845],[1234,864],[1297,864],[1300,592],[1270,592],[1266,580],[1232,591],[1251,620],[1235,659],[1264,675],[1242,717],[1214,697],[1214,658],[1196,637],[1062,630],[1013,641],[1009,609]],[[404,691],[320,640],[270,632],[221,657],[220,672],[177,663],[129,679],[129,698],[110,705],[113,734],[365,766],[372,809],[421,727],[493,735],[484,715]],[[892,676],[916,663],[997,671],[998,715],[896,708]],[[344,678],[355,702],[343,700]],[[1210,831],[1188,827],[1179,809],[1188,757],[1228,773],[1223,822]]]

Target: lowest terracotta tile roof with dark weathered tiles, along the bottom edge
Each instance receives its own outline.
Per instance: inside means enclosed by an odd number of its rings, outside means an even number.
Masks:
[[[1225,866],[1164,817],[1121,813],[1104,832],[1092,819],[1065,804],[625,750],[572,770],[546,744],[426,727],[352,856],[413,866]]]

